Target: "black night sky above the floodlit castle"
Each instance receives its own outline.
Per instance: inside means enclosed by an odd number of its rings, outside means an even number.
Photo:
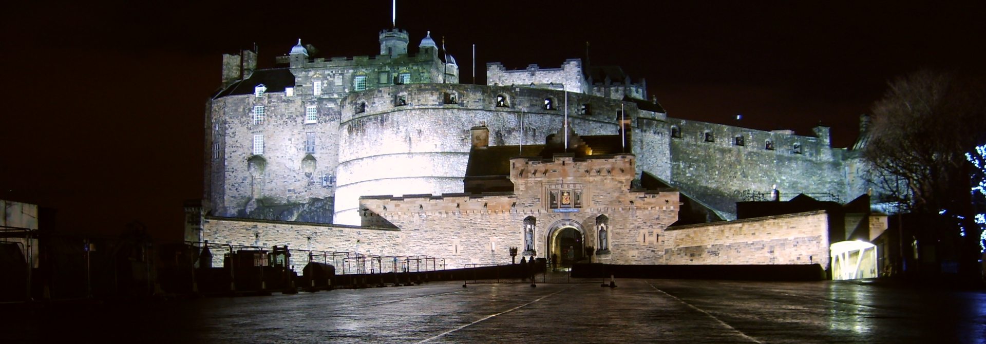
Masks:
[[[258,46],[261,67],[300,37],[321,57],[372,55],[390,2],[119,2],[5,5],[0,14],[0,199],[57,209],[66,233],[115,236],[134,220],[181,234],[201,198],[205,101],[222,53]],[[353,5],[339,5],[349,3]],[[486,62],[620,65],[679,118],[852,144],[886,82],[920,68],[981,70],[983,2],[399,1],[417,46],[445,36],[471,82]],[[412,48],[412,50],[414,50]]]

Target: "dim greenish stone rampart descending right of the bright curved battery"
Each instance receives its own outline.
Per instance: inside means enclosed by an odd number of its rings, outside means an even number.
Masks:
[[[827,128],[819,128],[824,129],[822,137],[810,137],[676,118],[668,121],[680,132],[679,138],[669,138],[673,186],[732,216],[736,202],[748,192],[769,192],[775,184],[784,199],[798,193],[831,193],[842,201],[855,197],[847,194],[845,150],[829,147]],[[706,141],[706,132],[713,142]],[[742,146],[736,144],[737,136],[742,136]],[[766,149],[768,140],[773,150]],[[796,145],[801,146],[797,152]]]

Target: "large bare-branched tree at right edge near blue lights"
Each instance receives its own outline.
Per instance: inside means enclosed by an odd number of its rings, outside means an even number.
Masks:
[[[869,129],[870,182],[901,212],[932,219],[916,226],[919,244],[939,246],[938,259],[957,259],[963,274],[978,275],[976,168],[967,154],[986,144],[982,79],[927,70],[898,78],[874,104]]]

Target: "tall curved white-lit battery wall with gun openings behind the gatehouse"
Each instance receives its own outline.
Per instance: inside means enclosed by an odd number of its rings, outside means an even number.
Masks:
[[[448,102],[453,96],[456,102]],[[569,122],[579,134],[619,132],[620,102],[556,90],[421,84],[349,96],[341,105],[336,223],[359,224],[363,195],[462,192],[469,128],[485,124],[493,146],[543,144],[563,127],[566,96]],[[580,113],[582,104],[591,110]],[[625,110],[628,120],[638,115],[635,105]],[[661,153],[649,156],[660,160]]]

